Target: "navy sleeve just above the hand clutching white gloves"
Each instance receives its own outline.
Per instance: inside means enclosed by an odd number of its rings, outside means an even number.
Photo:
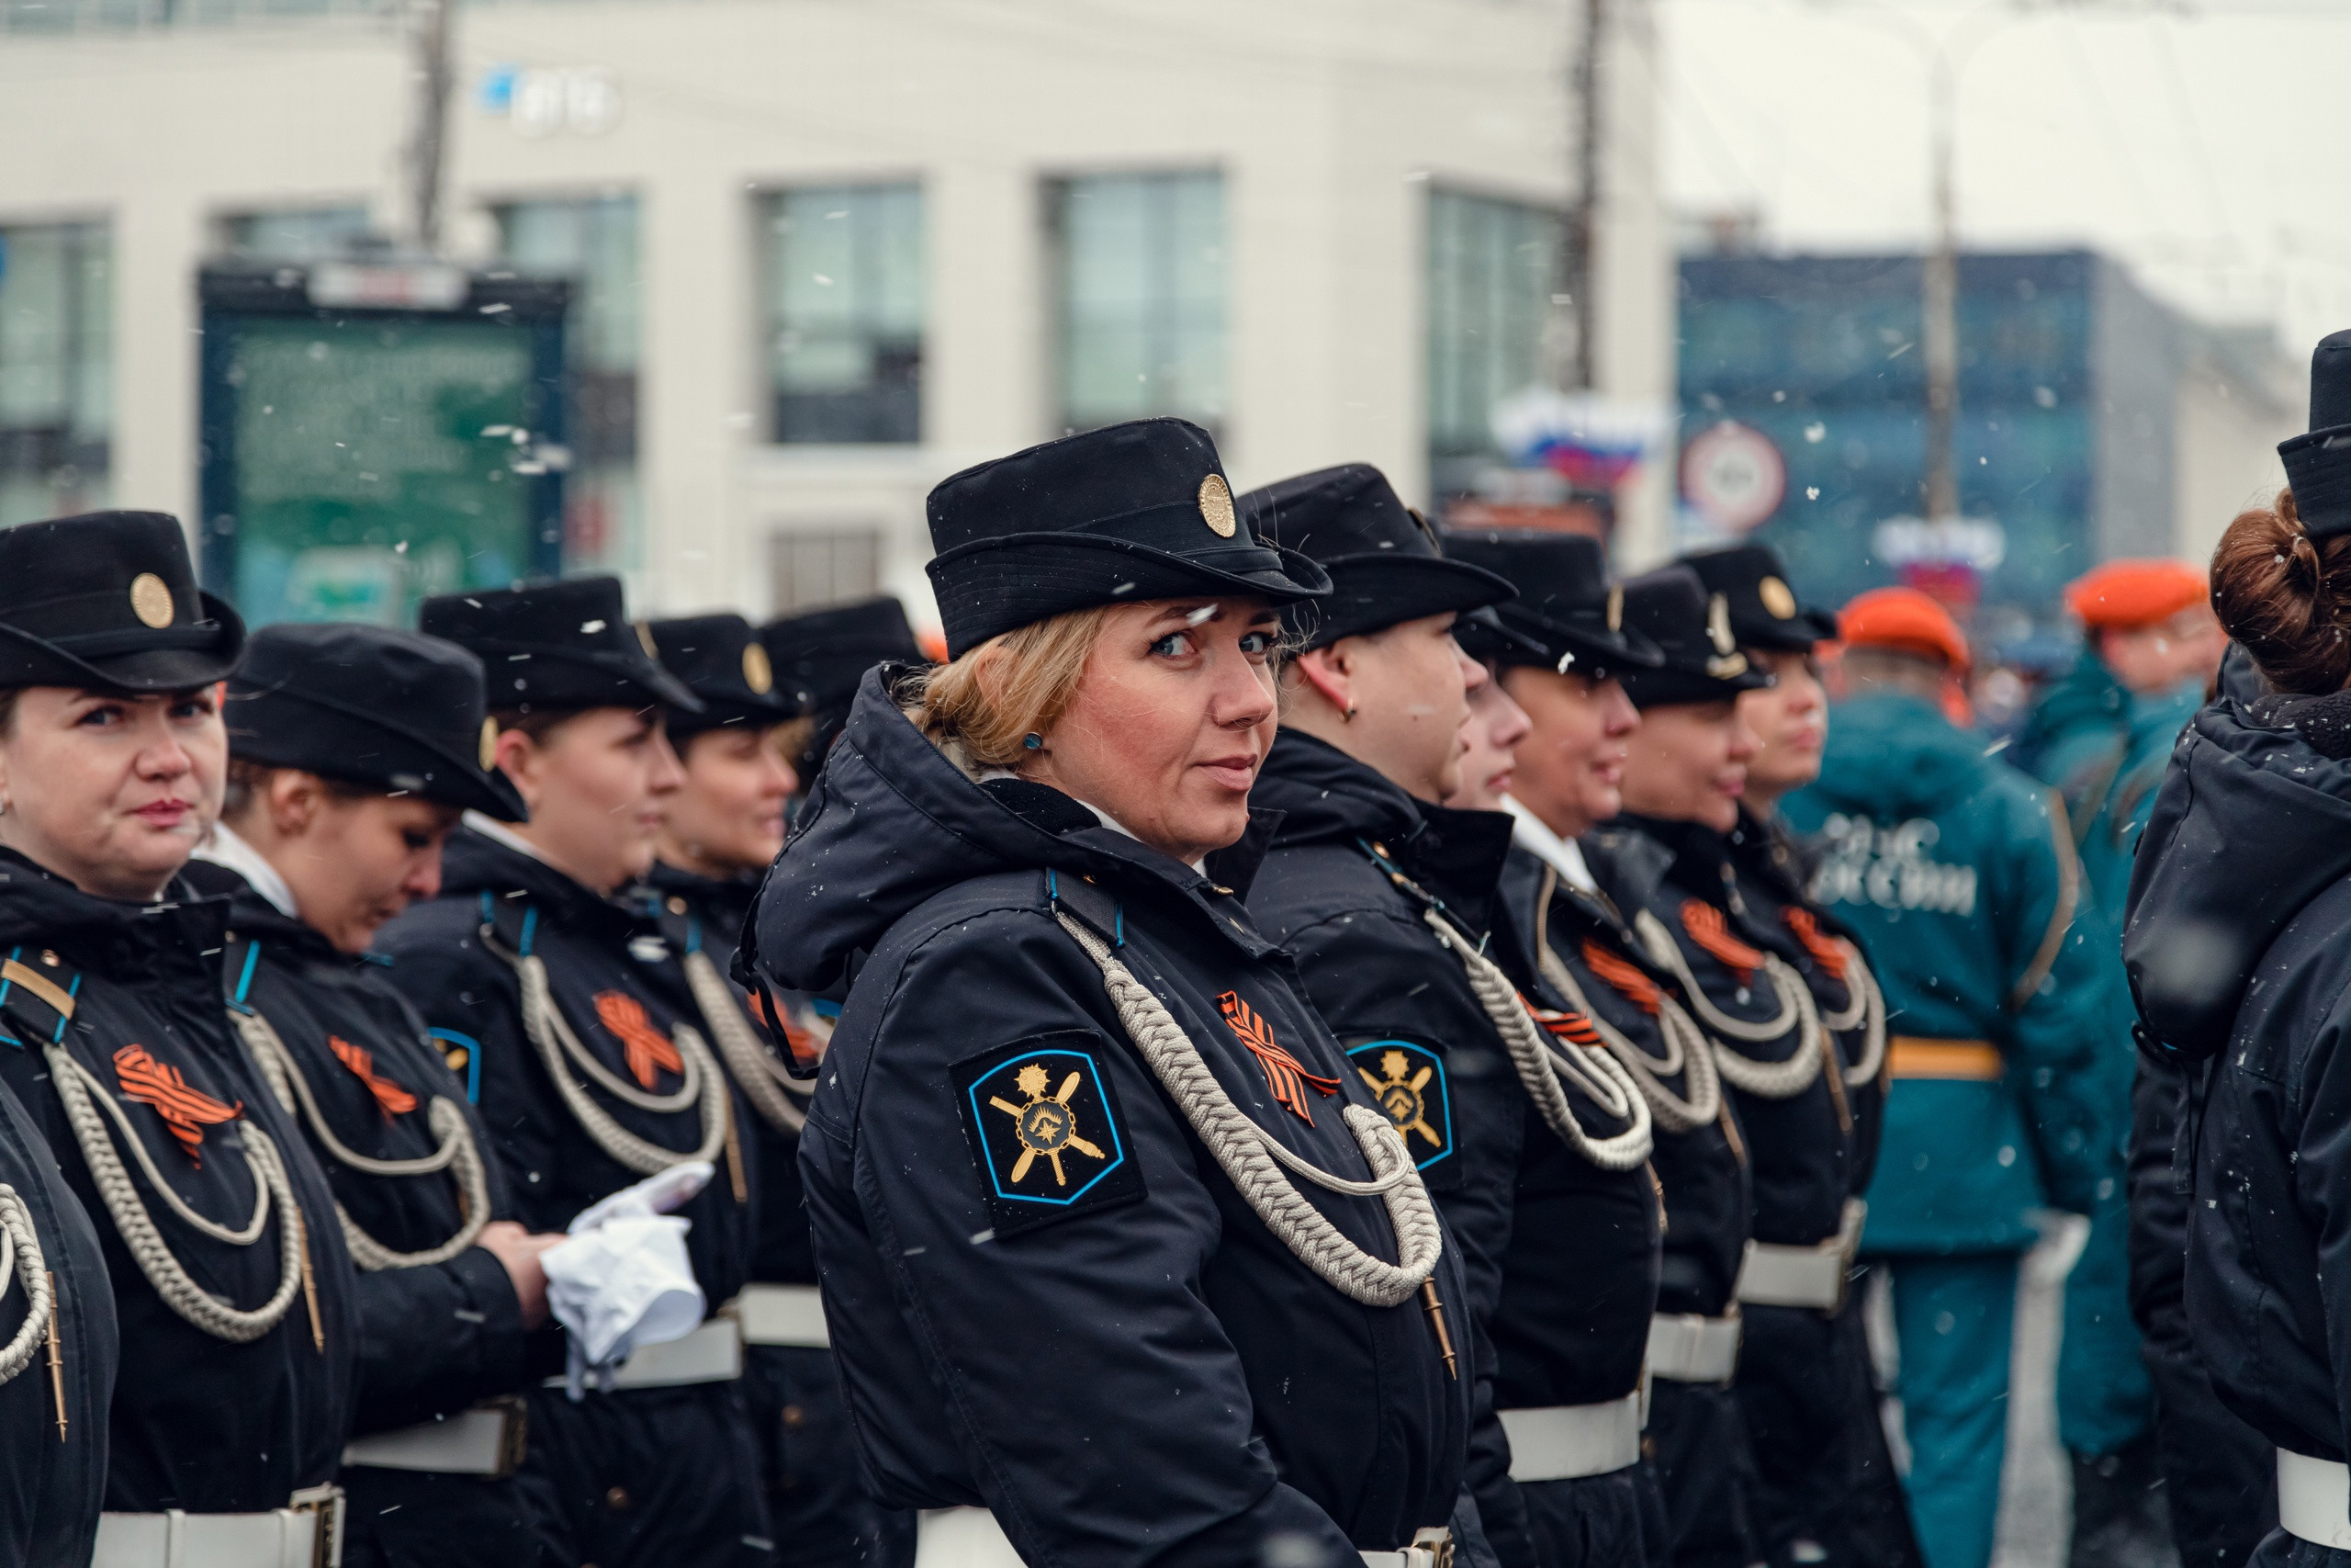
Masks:
[[[555,1135],[534,1088],[538,1067],[522,1032],[515,971],[482,947],[470,929],[400,919],[386,926],[379,947],[393,959],[386,978],[416,1009],[435,1044],[463,1046],[480,1067],[480,1077],[468,1084],[498,1166],[494,1190],[503,1187],[513,1204],[498,1204],[496,1211],[513,1213],[529,1229],[569,1225],[569,1213],[555,1213],[562,1204],[534,1201],[555,1187]]]

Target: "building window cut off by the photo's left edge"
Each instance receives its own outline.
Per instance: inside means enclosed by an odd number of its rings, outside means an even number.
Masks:
[[[0,228],[0,527],[106,505],[113,327],[106,223]]]

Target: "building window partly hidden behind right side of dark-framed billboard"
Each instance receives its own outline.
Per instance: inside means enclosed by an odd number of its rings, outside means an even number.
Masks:
[[[639,287],[637,197],[513,202],[496,209],[501,261],[524,277],[571,282],[564,360],[571,404],[564,442],[564,571],[639,567],[644,491],[637,484]]]

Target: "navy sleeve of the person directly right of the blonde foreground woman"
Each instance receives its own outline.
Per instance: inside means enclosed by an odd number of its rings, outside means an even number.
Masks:
[[[1399,1034],[1444,1058],[1453,1152],[1427,1171],[1427,1182],[1462,1248],[1469,1279],[1476,1385],[1462,1479],[1502,1568],[1533,1568],[1526,1502],[1509,1479],[1509,1439],[1493,1408],[1500,1375],[1493,1316],[1502,1302],[1526,1091],[1460,961],[1436,950],[1427,926],[1387,912],[1357,912],[1300,926],[1284,938],[1284,947],[1298,959],[1307,997],[1342,1044]]]

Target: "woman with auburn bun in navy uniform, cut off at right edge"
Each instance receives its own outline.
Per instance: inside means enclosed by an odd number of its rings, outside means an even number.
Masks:
[[[2351,331],[2311,360],[2290,489],[2212,552],[2222,677],[2139,839],[2123,964],[2142,1048],[2186,1074],[2168,1180],[2222,1403],[2278,1446],[2252,1563],[2351,1563]],[[2229,665],[2238,658],[2231,656]],[[2222,1443],[2215,1443],[2222,1448]],[[2224,1472],[2226,1474],[2226,1472]]]

